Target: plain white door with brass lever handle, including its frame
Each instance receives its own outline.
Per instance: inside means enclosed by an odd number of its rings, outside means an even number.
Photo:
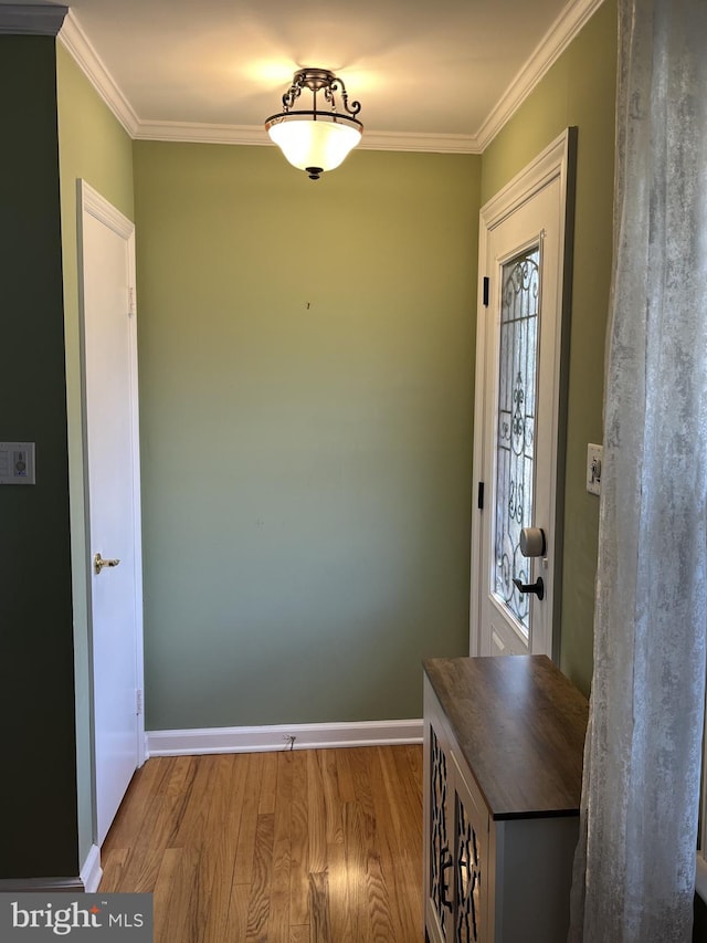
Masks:
[[[96,844],[144,759],[133,223],[81,182]]]

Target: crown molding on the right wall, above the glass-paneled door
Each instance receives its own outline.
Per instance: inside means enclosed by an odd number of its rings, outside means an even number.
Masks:
[[[478,129],[476,137],[482,151],[488,147],[603,2],[604,0],[569,0]]]

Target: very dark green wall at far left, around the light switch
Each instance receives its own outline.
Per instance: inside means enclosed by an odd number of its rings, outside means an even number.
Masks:
[[[0,878],[78,872],[55,41],[0,36]]]

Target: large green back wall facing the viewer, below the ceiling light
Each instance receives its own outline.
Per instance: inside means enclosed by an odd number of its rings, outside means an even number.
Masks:
[[[148,729],[416,717],[467,651],[479,169],[135,144]]]

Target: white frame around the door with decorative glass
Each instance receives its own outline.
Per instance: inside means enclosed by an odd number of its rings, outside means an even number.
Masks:
[[[553,579],[551,638],[546,641],[547,653],[559,662],[559,632],[556,631],[560,614],[562,594],[562,523],[564,506],[564,454],[567,444],[567,385],[569,375],[569,311],[572,284],[572,244],[574,232],[574,185],[577,177],[577,128],[569,127],[545,148],[534,160],[517,174],[502,190],[488,200],[479,212],[478,230],[478,297],[476,315],[476,373],[474,394],[474,481],[476,489],[484,480],[484,418],[488,408],[488,398],[495,391],[495,384],[486,381],[486,345],[488,332],[495,326],[489,322],[484,305],[484,275],[493,264],[489,258],[489,234],[504,220],[532,199],[553,180],[560,180],[560,244],[562,260],[559,276],[560,311],[556,319],[556,363],[552,377],[552,442],[550,468],[552,470],[553,501],[549,526],[553,533]],[[490,482],[489,490],[490,490]],[[481,599],[483,579],[481,572],[483,539],[482,509],[474,507],[472,513],[472,574],[469,598],[469,654],[478,656],[481,642]]]

